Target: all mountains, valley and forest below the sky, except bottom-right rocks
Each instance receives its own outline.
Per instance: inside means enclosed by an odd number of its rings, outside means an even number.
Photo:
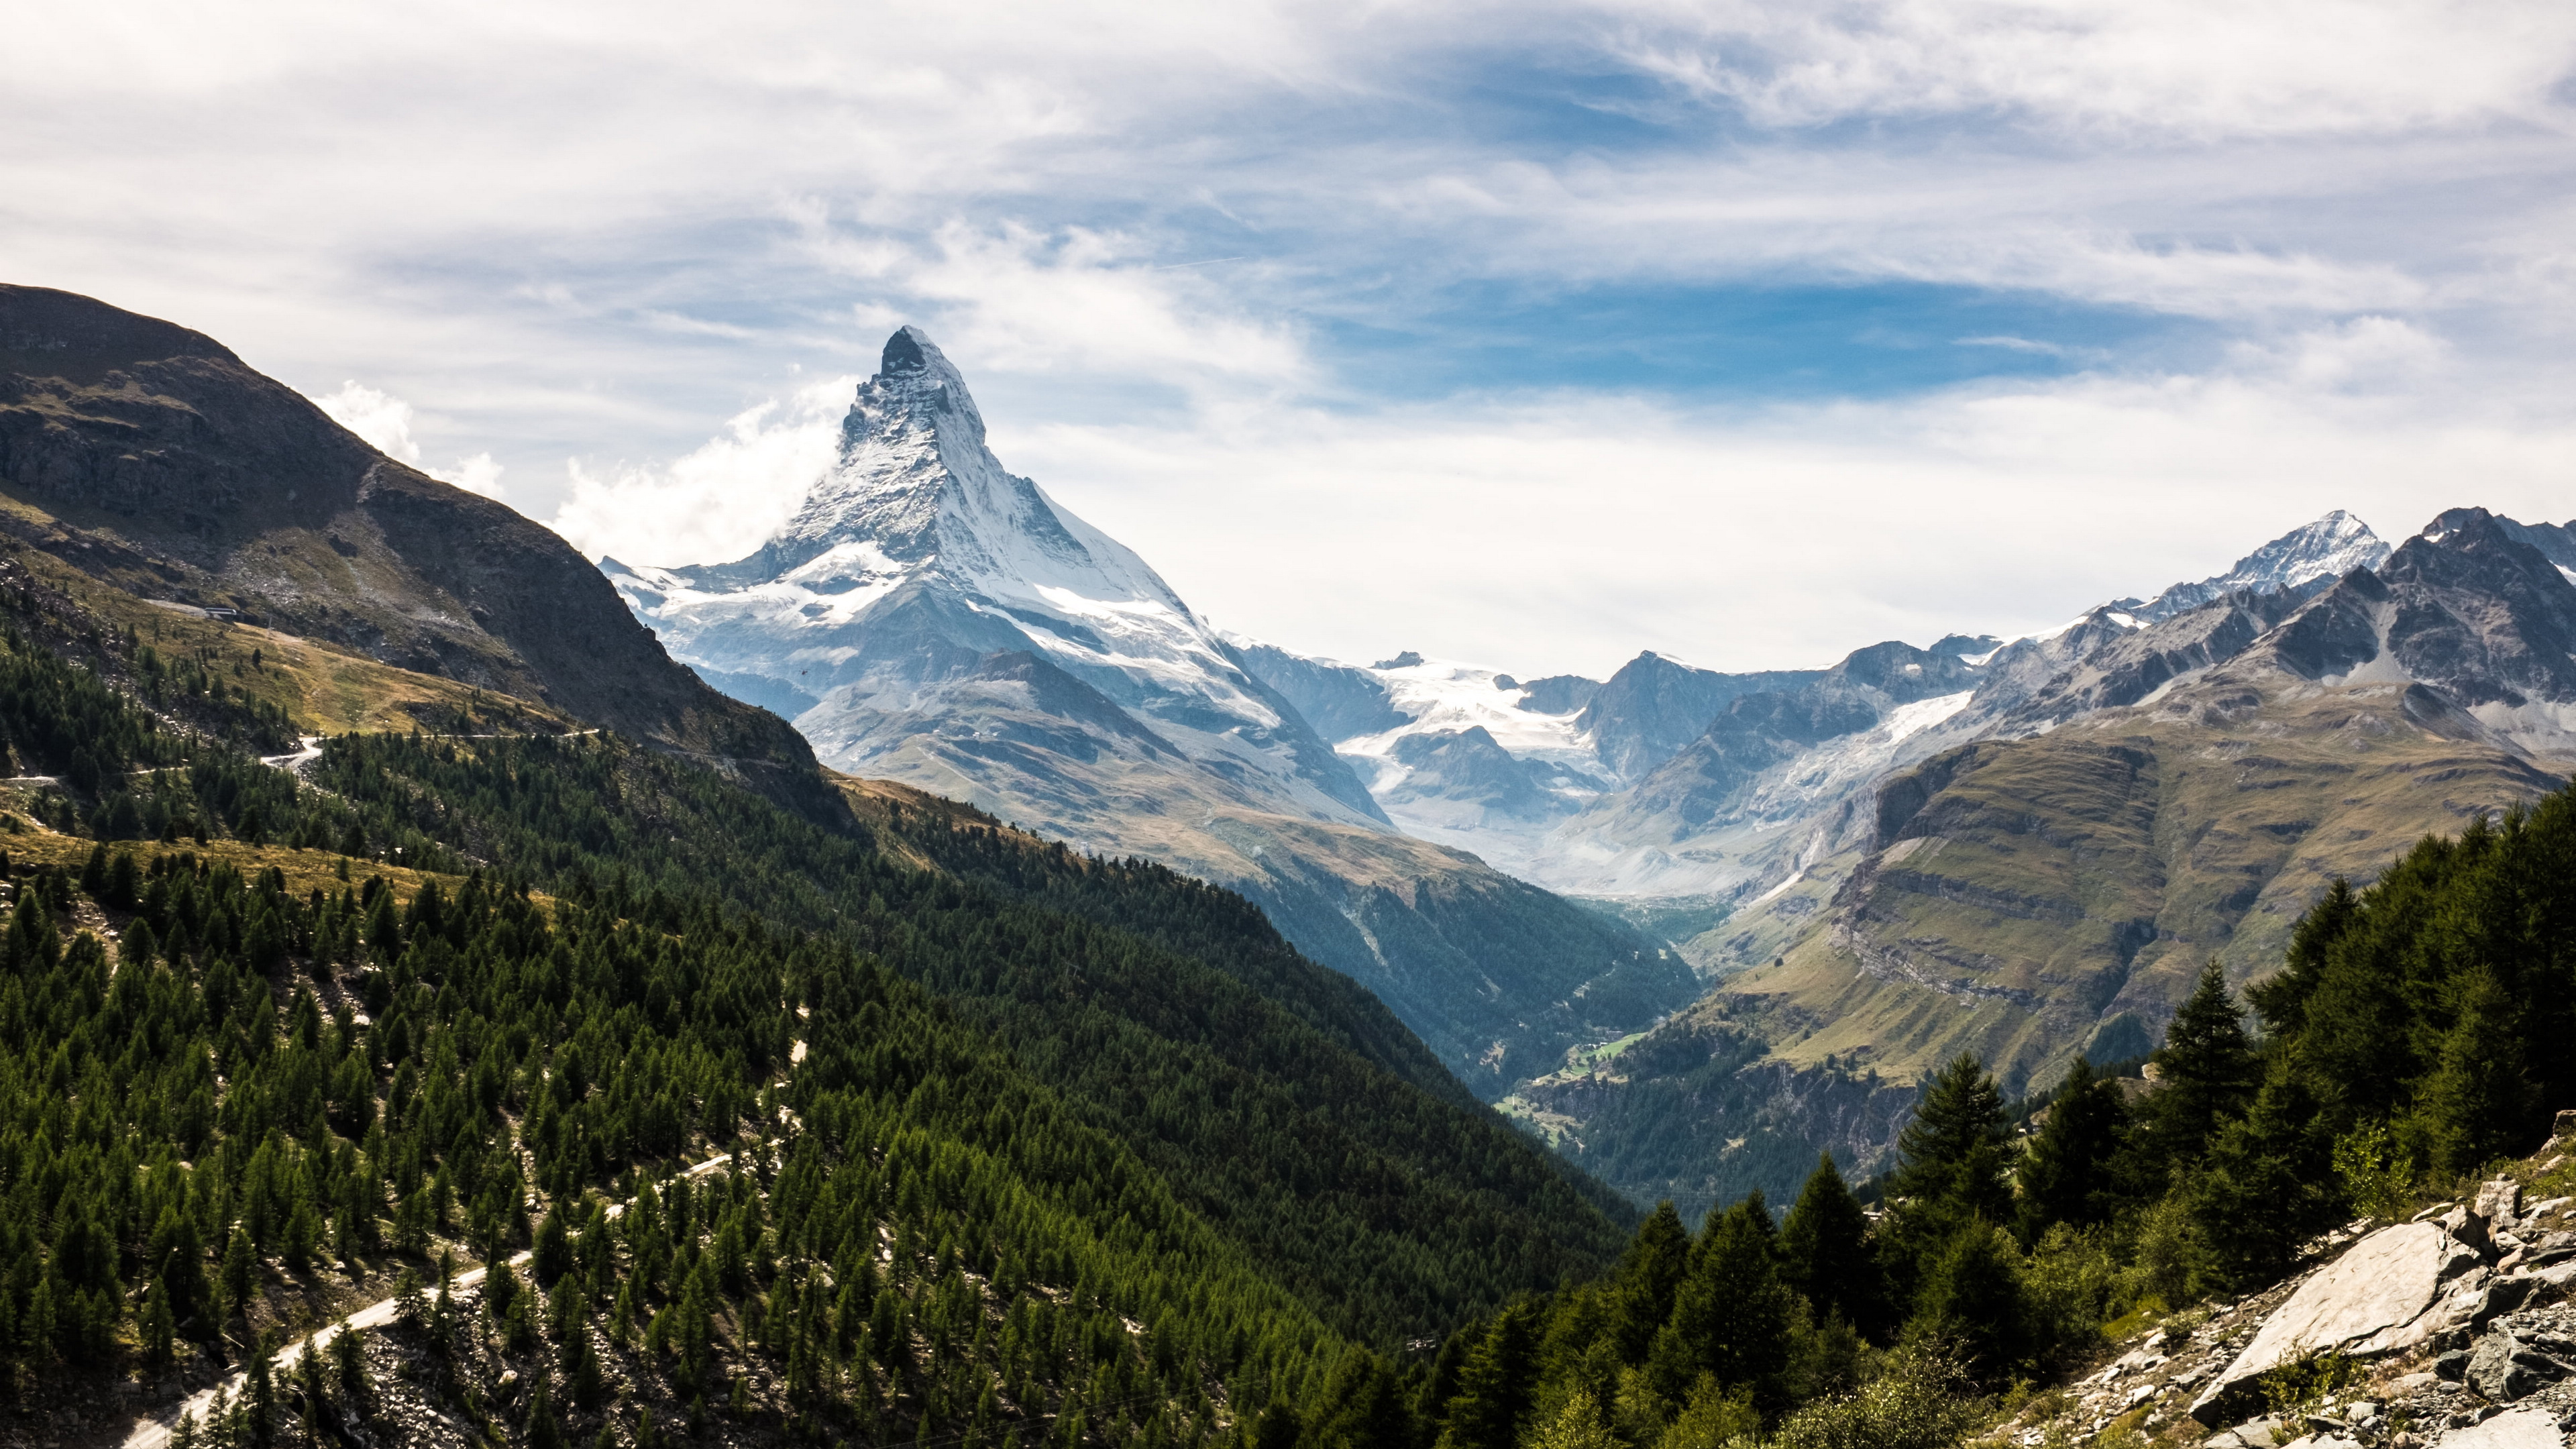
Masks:
[[[755,554],[592,567],[0,286],[0,1441],[2197,1444],[2221,1348],[2352,1387],[2246,1305],[2354,1214],[2383,1369],[2527,1397],[2576,1168],[2419,1209],[2576,1091],[2571,580],[2329,513],[2043,637],[1352,665],[914,327]]]

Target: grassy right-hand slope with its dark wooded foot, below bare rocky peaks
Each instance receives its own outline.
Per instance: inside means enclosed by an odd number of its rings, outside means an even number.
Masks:
[[[1772,964],[1507,1106],[1641,1196],[1788,1191],[1829,1145],[1875,1168],[1914,1083],[1976,1055],[2004,1091],[2146,1055],[2218,959],[2280,967],[2336,877],[2563,776],[2406,686],[2239,668],[1880,786],[1860,843],[1721,931]]]

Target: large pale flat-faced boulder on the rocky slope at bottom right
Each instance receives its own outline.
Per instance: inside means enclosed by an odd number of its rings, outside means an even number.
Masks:
[[[2226,1423],[2228,1410],[2249,1405],[2262,1374],[2306,1354],[2367,1356],[2421,1343],[2432,1328],[2414,1333],[2419,1320],[2437,1302],[2447,1305],[2442,1287],[2450,1279],[2473,1269],[2483,1271],[2478,1253],[2437,1222],[2401,1222],[2362,1238],[2264,1318],[2244,1354],[2192,1403],[2192,1418]]]

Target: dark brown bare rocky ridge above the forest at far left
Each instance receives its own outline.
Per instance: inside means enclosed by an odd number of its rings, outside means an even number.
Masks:
[[[386,459],[201,333],[0,286],[0,487],[18,544],[139,598],[811,771],[801,737],[672,663],[554,531]]]

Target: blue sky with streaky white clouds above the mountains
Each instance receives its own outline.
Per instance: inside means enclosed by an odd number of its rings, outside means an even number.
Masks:
[[[2576,516],[2576,5],[46,5],[0,278],[582,552],[750,552],[889,330],[1291,650],[2017,634]]]

